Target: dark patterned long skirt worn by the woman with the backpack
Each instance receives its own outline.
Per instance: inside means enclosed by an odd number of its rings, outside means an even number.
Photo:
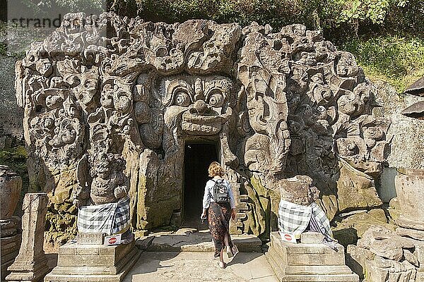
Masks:
[[[215,245],[215,257],[219,257],[220,251],[225,247],[224,237],[228,234],[228,243],[232,247],[230,237],[230,219],[231,219],[231,207],[230,203],[217,204],[211,202],[208,209],[208,223],[209,231],[213,238],[213,244]]]

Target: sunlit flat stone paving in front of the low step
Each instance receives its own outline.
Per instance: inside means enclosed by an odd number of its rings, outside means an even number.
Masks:
[[[220,269],[213,252],[143,252],[124,282],[278,282],[261,252],[240,252]]]

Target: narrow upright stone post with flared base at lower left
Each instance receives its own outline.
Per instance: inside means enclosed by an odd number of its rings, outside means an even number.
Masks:
[[[18,257],[8,267],[7,281],[40,281],[49,272],[43,250],[48,197],[28,193],[23,199],[22,244]]]

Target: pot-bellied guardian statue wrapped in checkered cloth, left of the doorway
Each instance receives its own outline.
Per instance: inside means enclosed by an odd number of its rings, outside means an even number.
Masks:
[[[132,240],[125,161],[119,154],[90,153],[78,163],[78,188],[73,193],[73,204],[78,207],[78,232],[124,233],[124,238]]]

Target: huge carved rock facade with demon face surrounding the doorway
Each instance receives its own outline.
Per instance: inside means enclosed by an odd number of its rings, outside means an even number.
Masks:
[[[381,204],[373,178],[389,124],[372,117],[375,87],[303,25],[68,14],[16,74],[31,180],[57,206],[114,158],[122,166],[103,176],[128,178],[133,227],[178,222],[194,141],[220,147],[240,203],[233,233],[269,233],[281,181],[298,174],[330,219]]]

